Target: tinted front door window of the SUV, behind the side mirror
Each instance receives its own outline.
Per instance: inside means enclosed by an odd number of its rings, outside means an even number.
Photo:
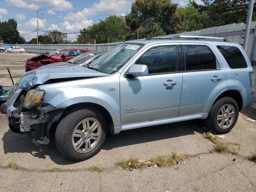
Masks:
[[[148,50],[136,64],[148,66],[148,73],[166,73],[177,71],[177,47],[164,46]]]

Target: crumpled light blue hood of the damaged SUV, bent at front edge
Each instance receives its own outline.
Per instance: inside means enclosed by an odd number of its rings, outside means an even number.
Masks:
[[[35,85],[44,84],[44,82],[52,79],[64,79],[64,82],[65,78],[90,78],[108,75],[109,74],[97,72],[80,65],[44,66],[27,72],[20,78],[17,84],[21,89],[27,91]]]

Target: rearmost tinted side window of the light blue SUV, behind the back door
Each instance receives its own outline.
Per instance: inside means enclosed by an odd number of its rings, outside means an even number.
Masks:
[[[232,69],[247,68],[246,61],[241,51],[234,46],[217,46]]]

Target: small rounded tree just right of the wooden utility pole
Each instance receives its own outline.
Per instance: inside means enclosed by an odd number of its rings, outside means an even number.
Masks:
[[[58,30],[53,30],[46,32],[43,39],[45,44],[61,44],[66,41],[67,35]]]

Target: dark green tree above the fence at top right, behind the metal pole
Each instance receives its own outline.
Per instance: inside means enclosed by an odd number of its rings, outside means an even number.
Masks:
[[[190,0],[190,4],[194,6],[200,14],[207,14],[208,19],[200,21],[202,28],[246,22],[249,0],[202,1],[204,3],[203,5],[197,4],[194,0]],[[255,11],[256,5],[254,4],[252,20],[256,19]]]

